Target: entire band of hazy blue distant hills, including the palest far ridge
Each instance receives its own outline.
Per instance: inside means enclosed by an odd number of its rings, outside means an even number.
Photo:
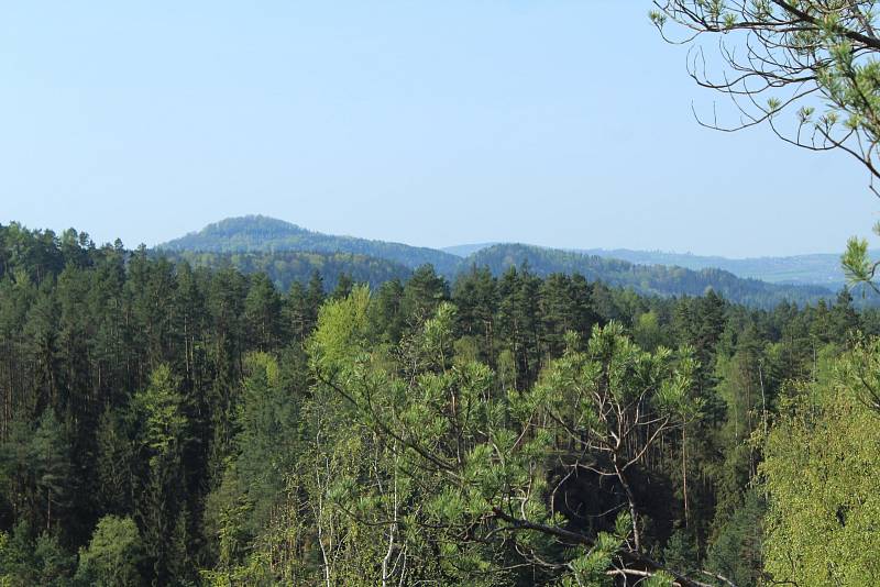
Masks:
[[[308,279],[316,269],[329,287],[343,273],[356,281],[377,285],[405,278],[428,263],[449,279],[474,266],[488,267],[498,275],[509,267],[526,265],[539,276],[580,273],[590,280],[645,295],[698,296],[713,288],[732,301],[755,307],[772,307],[783,300],[815,302],[834,297],[843,285],[837,255],[727,259],[626,250],[563,251],[507,243],[440,251],[322,234],[258,215],[227,219],[156,250],[196,265],[266,272],[283,288]]]

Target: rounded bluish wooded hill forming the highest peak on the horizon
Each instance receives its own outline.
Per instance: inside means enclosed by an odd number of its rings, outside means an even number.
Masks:
[[[222,220],[156,248],[204,253],[349,253],[392,261],[410,269],[430,263],[442,274],[454,273],[460,262],[455,255],[435,248],[322,234],[261,215]]]

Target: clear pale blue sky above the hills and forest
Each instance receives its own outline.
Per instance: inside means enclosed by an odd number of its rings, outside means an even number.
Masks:
[[[264,214],[424,246],[736,257],[868,235],[880,200],[855,160],[696,124],[723,98],[649,8],[9,2],[0,223],[133,247]]]

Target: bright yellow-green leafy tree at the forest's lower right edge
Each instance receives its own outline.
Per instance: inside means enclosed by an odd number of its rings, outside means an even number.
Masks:
[[[879,362],[877,342],[860,345],[785,398],[761,465],[776,580],[862,585],[880,574],[880,428],[865,401],[880,384]]]

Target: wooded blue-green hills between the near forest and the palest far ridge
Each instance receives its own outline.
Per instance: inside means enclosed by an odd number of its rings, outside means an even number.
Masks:
[[[827,287],[768,284],[715,267],[693,270],[680,266],[638,265],[573,251],[504,243],[479,248],[461,258],[431,248],[321,234],[265,217],[227,219],[198,233],[158,245],[156,252],[186,258],[196,266],[235,267],[246,274],[262,270],[284,290],[294,281],[307,280],[316,269],[331,287],[342,273],[375,286],[392,277],[405,278],[428,263],[450,281],[474,266],[488,267],[499,277],[512,266],[527,264],[540,277],[580,273],[591,281],[630,288],[646,296],[701,296],[713,288],[730,301],[768,309],[781,301],[803,304],[834,298],[834,291]],[[858,300],[860,303],[876,301],[873,296]]]

